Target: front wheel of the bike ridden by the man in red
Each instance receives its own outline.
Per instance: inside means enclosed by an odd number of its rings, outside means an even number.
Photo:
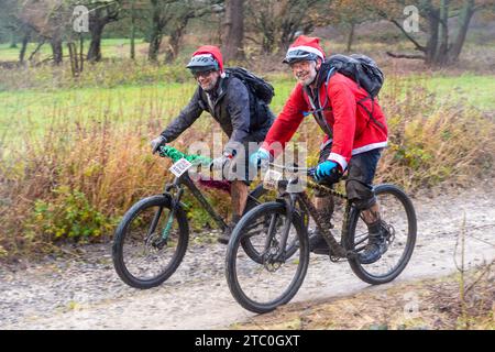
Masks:
[[[268,231],[250,235],[251,224],[264,222],[267,217],[271,222]],[[290,223],[287,245],[295,241],[298,245],[295,251],[276,258],[280,253],[279,241],[287,221],[286,207],[283,204],[266,202],[249,211],[232,232],[227,249],[226,276],[232,296],[248,310],[262,314],[288,302],[305,279],[309,245],[302,221],[297,213],[294,213]],[[241,245],[248,237],[261,261],[253,261]]]

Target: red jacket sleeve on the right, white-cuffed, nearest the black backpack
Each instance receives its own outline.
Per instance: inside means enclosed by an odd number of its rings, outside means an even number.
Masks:
[[[355,97],[344,82],[329,85],[328,90],[333,110],[333,142],[329,160],[337,162],[342,170],[351,161],[355,133]]]

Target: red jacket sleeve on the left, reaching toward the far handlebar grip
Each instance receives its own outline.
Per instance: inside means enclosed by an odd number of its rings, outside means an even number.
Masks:
[[[302,86],[298,84],[272,124],[261,147],[268,151],[273,156],[282,153],[302,122],[304,111],[307,110],[308,105],[304,98]]]

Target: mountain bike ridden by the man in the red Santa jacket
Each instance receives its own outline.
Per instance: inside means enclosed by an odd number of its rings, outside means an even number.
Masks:
[[[406,267],[416,243],[416,213],[409,197],[399,187],[374,187],[381,211],[387,251],[375,263],[364,265],[359,254],[367,243],[367,227],[361,211],[334,185],[314,180],[315,168],[286,167],[271,163],[263,185],[278,191],[275,201],[251,209],[237,224],[226,256],[226,276],[235,300],[253,312],[267,312],[288,302],[298,292],[309,264],[308,218],[329,245],[332,262],[348,261],[354,274],[372,285],[396,278]],[[288,175],[284,175],[288,174]],[[307,176],[306,185],[301,179]],[[345,179],[345,177],[344,177]],[[337,197],[343,205],[340,241],[334,228],[311,202],[306,186]],[[258,253],[243,251],[245,241]]]

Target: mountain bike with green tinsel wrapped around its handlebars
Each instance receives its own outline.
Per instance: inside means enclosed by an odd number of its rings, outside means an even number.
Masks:
[[[209,165],[211,160],[186,155],[168,145],[161,147],[160,156],[174,162],[169,168],[175,175],[174,180],[165,184],[161,195],[143,198],[125,212],[116,230],[112,245],[117,274],[125,284],[142,289],[164,283],[184,258],[189,241],[189,224],[186,206],[180,199],[186,189],[221,231],[228,227],[189,175],[191,166]],[[217,187],[224,188],[227,182],[211,183],[218,183],[220,185],[217,184]],[[248,195],[245,212],[257,206],[258,198],[264,194],[263,185],[252,189]],[[243,241],[242,245],[246,253],[256,257],[257,253],[253,253],[249,240]]]

